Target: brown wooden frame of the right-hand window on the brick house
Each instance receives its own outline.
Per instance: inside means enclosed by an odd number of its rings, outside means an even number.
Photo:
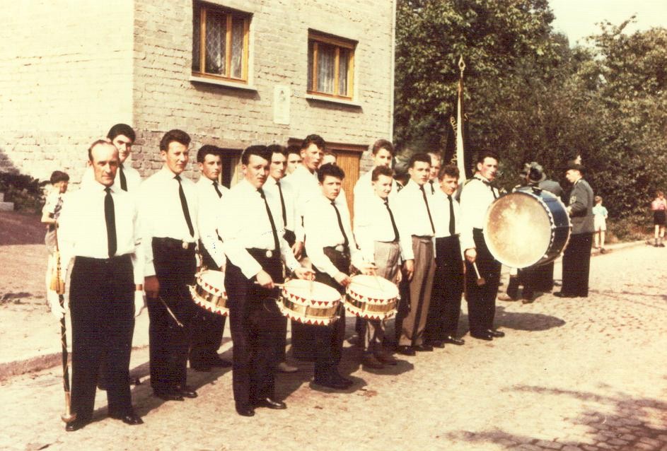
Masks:
[[[308,84],[313,86],[313,89],[306,89],[308,94],[312,95],[321,95],[323,97],[343,99],[343,100],[352,100],[354,97],[354,53],[356,50],[356,42],[352,40],[346,40],[342,37],[335,37],[331,35],[325,35],[323,33],[317,33],[315,31],[308,31],[308,52],[311,52],[311,42],[313,42],[313,67],[311,68],[312,80],[308,80]],[[335,56],[335,69],[334,69],[334,94],[323,93],[315,88],[318,86],[318,43],[333,45],[336,49]],[[339,82],[340,82],[340,49],[349,50],[349,60],[347,64],[347,94],[340,95],[338,93]]]

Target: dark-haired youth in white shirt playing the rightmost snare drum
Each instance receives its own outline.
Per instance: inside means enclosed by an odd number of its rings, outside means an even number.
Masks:
[[[308,205],[304,218],[306,252],[315,269],[315,280],[326,283],[341,294],[350,283],[350,264],[369,274],[371,266],[364,263],[356,247],[349,221],[347,204],[340,201],[345,174],[336,165],[322,165],[318,169],[320,195]],[[315,384],[332,389],[347,389],[352,380],[342,377],[337,370],[345,334],[345,315],[342,312],[334,324],[306,326],[306,333],[315,338]]]

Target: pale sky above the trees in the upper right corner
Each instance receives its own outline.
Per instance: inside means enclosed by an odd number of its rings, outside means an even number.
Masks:
[[[620,25],[632,14],[637,23],[625,28],[632,33],[651,27],[667,28],[667,0],[549,0],[556,16],[554,30],[565,33],[570,45],[585,44],[584,37],[598,33],[598,22],[610,21]]]

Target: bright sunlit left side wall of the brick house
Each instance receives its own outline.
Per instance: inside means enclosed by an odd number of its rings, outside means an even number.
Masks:
[[[76,182],[88,144],[132,123],[132,0],[0,10],[0,170]]]

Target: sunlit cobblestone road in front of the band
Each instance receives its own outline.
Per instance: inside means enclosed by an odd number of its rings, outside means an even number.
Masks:
[[[219,370],[190,373],[199,398],[182,403],[136,387],[143,426],[106,418],[101,394],[98,421],[65,433],[59,369],[13,377],[0,389],[0,449],[667,451],[666,262],[643,246],[595,257],[588,299],[499,303],[504,339],[466,335],[392,370],[361,370],[346,348],[346,393],[311,389],[303,363],[279,377],[289,409],[253,418],[235,414]],[[144,374],[147,358],[133,356]]]

